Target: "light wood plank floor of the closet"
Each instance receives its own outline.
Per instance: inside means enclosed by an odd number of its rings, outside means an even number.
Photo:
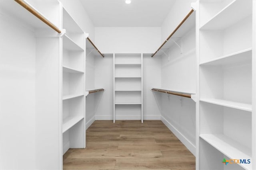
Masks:
[[[195,157],[162,121],[94,121],[86,149],[69,149],[63,169],[194,170]]]

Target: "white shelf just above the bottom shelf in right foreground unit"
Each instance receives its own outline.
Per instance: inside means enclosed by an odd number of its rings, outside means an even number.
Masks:
[[[232,102],[228,100],[221,100],[221,99],[200,99],[202,102],[207,102],[211,104],[217,104],[220,106],[226,106],[231,107],[234,109],[240,109],[245,111],[252,111],[252,105],[251,104],[244,104],[244,103],[238,103],[238,102]]]

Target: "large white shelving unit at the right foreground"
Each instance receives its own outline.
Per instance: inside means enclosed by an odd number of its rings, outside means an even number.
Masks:
[[[253,3],[198,2],[197,169],[256,167],[252,150]],[[221,164],[223,158],[245,159],[247,164]]]

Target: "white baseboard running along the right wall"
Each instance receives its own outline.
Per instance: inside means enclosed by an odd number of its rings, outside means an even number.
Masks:
[[[162,122],[172,131],[172,133],[180,139],[180,141],[190,150],[194,156],[196,156],[196,146],[194,146],[180,131],[178,131],[170,122],[168,122],[163,116],[161,116]]]

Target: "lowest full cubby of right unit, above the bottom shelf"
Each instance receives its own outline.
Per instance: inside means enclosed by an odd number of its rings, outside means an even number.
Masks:
[[[200,127],[200,136],[218,134],[225,139],[228,138],[232,143],[239,143],[241,148],[252,149],[250,111],[200,102]],[[250,153],[248,155],[251,156]]]

